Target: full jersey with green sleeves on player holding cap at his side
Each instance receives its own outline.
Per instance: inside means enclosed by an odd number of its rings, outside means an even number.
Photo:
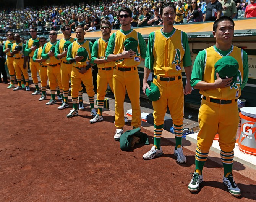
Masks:
[[[185,32],[173,29],[170,33],[162,29],[149,34],[145,67],[154,69],[161,77],[181,76],[182,67],[192,65],[188,37]]]

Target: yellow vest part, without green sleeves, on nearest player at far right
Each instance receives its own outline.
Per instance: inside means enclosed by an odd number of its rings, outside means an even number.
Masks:
[[[205,51],[206,51],[206,61],[205,61],[203,81],[207,83],[214,83],[215,81],[214,64],[224,56],[219,54],[214,49],[214,46],[207,48]],[[232,45],[232,49],[230,53],[228,53],[227,55],[234,57],[239,64],[238,76],[235,83],[233,83],[232,86],[228,86],[224,88],[200,90],[200,94],[206,97],[211,97],[211,98],[221,99],[221,100],[232,100],[240,97],[241,95],[240,87],[243,82],[243,50],[241,48],[238,48]]]

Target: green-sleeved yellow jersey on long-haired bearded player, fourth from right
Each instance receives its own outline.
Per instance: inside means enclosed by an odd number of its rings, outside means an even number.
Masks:
[[[92,46],[92,59],[91,59],[92,62],[94,62],[96,58],[104,59],[108,42],[109,41],[105,41],[102,37],[94,42]],[[105,62],[105,63],[98,64],[97,66],[98,68],[114,67],[115,62],[113,61]]]

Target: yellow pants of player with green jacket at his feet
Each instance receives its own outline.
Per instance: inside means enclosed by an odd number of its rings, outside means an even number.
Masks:
[[[137,67],[135,70],[122,72],[115,69],[113,73],[113,90],[115,94],[115,126],[123,127],[125,125],[123,103],[125,101],[125,92],[127,91],[131,101],[132,119],[131,126],[141,126],[141,108],[140,108],[140,83]]]

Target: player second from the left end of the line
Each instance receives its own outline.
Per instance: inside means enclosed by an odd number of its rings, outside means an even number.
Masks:
[[[28,75],[28,67],[27,67],[28,56],[26,54],[24,54],[26,45],[21,41],[21,37],[17,33],[14,35],[14,40],[15,40],[15,43],[13,43],[13,45],[11,45],[10,54],[11,54],[11,56],[14,57],[13,66],[15,69],[18,86],[16,88],[14,88],[13,91],[22,89],[22,87],[21,87],[21,80],[23,79],[22,75],[24,76],[25,81],[26,81],[26,91],[30,91],[29,75]],[[21,49],[15,50],[15,48],[17,46],[21,46]]]

